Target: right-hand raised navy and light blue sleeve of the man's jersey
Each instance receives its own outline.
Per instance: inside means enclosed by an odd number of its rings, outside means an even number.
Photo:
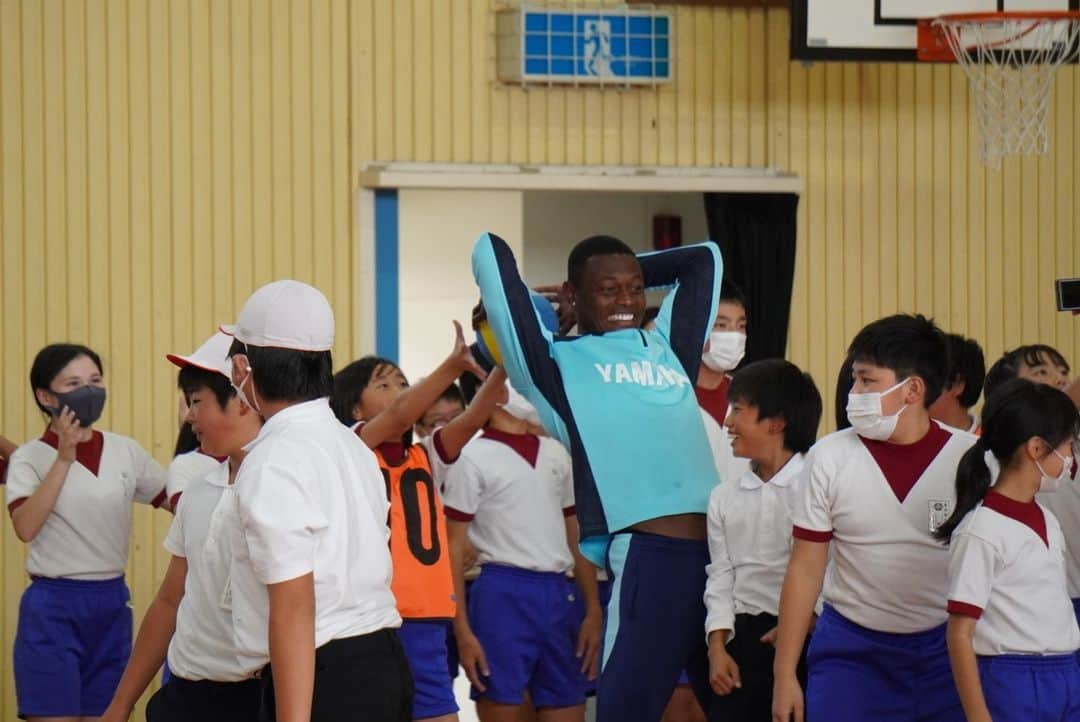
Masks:
[[[690,379],[698,378],[701,351],[716,317],[724,261],[715,243],[698,243],[637,257],[647,288],[670,288],[657,316],[657,331],[667,339]]]

